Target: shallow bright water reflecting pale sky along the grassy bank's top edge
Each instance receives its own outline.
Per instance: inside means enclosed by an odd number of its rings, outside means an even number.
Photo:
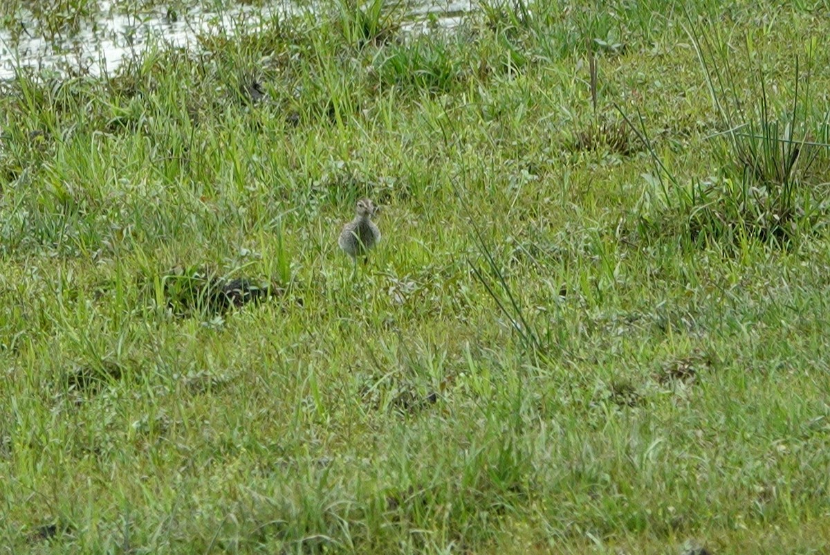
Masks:
[[[427,18],[440,27],[454,27],[475,1],[408,0],[403,28],[408,32],[425,31]],[[74,32],[50,37],[33,32],[30,27],[35,26],[28,25],[24,16],[17,32],[0,30],[0,80],[14,76],[16,68],[111,74],[126,59],[154,43],[196,48],[200,34],[256,30],[276,17],[315,10],[313,4],[300,6],[286,0],[275,0],[266,7],[240,2],[217,6],[218,3],[182,13],[167,12],[165,7],[126,13],[116,8],[112,0],[100,0],[98,15],[81,22]]]

